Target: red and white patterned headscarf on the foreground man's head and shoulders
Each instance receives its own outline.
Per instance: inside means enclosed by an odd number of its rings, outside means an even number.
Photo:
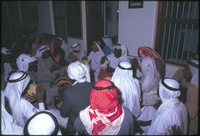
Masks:
[[[123,119],[124,110],[118,103],[118,88],[113,82],[102,79],[94,84],[90,103],[80,112],[80,119],[90,135],[116,135]]]

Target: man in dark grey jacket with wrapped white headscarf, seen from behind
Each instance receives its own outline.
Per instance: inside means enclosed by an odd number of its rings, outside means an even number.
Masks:
[[[67,71],[69,78],[75,82],[63,92],[63,105],[60,114],[68,119],[66,134],[74,135],[74,120],[79,112],[90,105],[90,92],[94,83],[90,82],[89,67],[79,61],[72,62]]]

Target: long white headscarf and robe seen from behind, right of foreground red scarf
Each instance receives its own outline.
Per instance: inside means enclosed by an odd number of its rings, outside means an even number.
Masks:
[[[132,77],[132,65],[122,61],[118,64],[111,81],[122,93],[123,106],[127,107],[134,116],[138,116],[140,110],[141,90],[139,81]]]

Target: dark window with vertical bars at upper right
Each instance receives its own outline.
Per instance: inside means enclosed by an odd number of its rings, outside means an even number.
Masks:
[[[183,64],[198,51],[199,3],[159,2],[155,50],[168,63]]]

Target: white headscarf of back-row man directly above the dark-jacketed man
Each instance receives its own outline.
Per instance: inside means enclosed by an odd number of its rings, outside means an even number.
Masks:
[[[73,50],[80,50],[80,52],[76,53]],[[71,45],[71,52],[78,58],[79,61],[82,61],[82,57],[86,56],[85,51],[78,42]]]

